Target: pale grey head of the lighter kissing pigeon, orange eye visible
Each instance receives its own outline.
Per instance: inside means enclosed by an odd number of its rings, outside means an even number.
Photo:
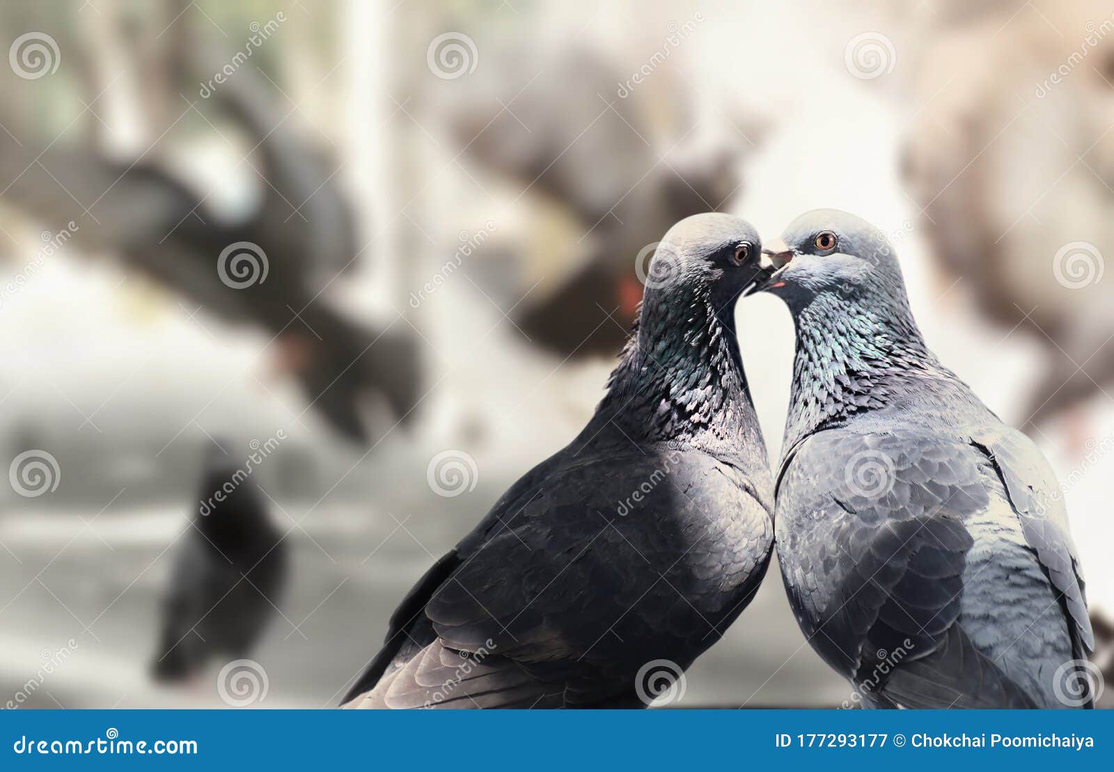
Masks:
[[[815,209],[794,219],[769,244],[763,263],[772,271],[753,291],[782,297],[790,307],[818,295],[848,301],[905,299],[893,246],[867,221],[839,209]]]

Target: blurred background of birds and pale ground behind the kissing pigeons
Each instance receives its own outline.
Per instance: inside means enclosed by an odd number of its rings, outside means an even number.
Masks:
[[[889,233],[930,345],[1056,467],[1110,668],[1112,11],[4,3],[0,704],[335,705],[709,209]],[[775,462],[790,319],[739,316]],[[680,704],[850,697],[772,566]]]

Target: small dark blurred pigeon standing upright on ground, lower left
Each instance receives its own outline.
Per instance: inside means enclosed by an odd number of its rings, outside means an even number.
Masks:
[[[283,534],[255,483],[214,448],[199,504],[175,556],[163,598],[159,681],[185,681],[211,659],[251,653],[276,608],[287,570]]]

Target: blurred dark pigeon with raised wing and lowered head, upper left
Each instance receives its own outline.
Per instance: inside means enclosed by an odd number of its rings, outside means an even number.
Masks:
[[[290,128],[270,92],[244,68],[213,95],[262,156],[262,202],[243,217],[222,217],[212,190],[143,156],[120,163],[46,144],[8,116],[21,136],[0,133],[0,195],[52,231],[74,222],[68,238],[86,252],[106,251],[209,313],[261,329],[306,401],[363,440],[365,398],[384,397],[402,417],[416,405],[418,352],[405,322],[374,329],[324,294],[360,254],[354,215],[339,166]]]

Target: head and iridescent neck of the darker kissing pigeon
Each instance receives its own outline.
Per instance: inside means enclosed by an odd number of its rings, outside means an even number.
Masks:
[[[642,307],[585,437],[614,423],[624,444],[698,437],[724,452],[763,448],[734,319],[739,296],[769,275],[758,232],[739,217],[698,214],[656,247],[645,276],[636,265]],[[755,459],[764,463],[764,453]]]

